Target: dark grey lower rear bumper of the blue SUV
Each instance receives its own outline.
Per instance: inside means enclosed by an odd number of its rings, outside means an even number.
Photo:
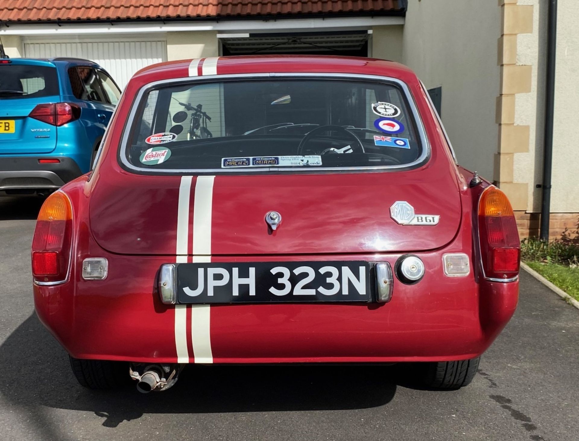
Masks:
[[[58,159],[60,163],[40,164],[39,159]],[[68,157],[1,157],[0,191],[23,189],[58,189],[82,174]]]

